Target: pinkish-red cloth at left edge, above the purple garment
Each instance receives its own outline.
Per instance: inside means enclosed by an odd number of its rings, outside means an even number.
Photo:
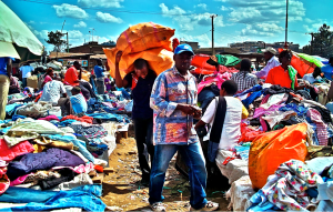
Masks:
[[[0,139],[0,160],[11,161],[18,155],[33,151],[33,147],[28,141],[20,142],[12,148],[8,148],[6,141]]]

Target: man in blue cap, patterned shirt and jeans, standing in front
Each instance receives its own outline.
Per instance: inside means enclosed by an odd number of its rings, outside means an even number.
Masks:
[[[174,50],[174,67],[155,80],[150,98],[154,111],[153,141],[155,153],[149,186],[149,202],[153,211],[165,211],[163,184],[169,162],[179,152],[189,166],[191,184],[191,211],[214,211],[218,203],[206,200],[206,170],[202,149],[193,127],[193,118],[200,118],[196,108],[198,88],[189,72],[193,59],[189,44]]]

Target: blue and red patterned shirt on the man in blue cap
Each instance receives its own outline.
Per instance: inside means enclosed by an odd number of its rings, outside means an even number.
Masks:
[[[196,105],[195,78],[180,74],[175,68],[162,72],[155,80],[150,107],[153,109],[154,144],[190,144],[198,142],[193,117],[175,110],[178,103]]]

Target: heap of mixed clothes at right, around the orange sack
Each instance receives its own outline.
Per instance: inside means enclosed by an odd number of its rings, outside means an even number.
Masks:
[[[309,208],[315,210],[319,206],[317,199],[313,199],[313,194],[310,196],[306,192],[312,192],[312,188],[317,188],[324,180],[321,180],[321,172],[307,169],[304,161],[283,161],[258,193],[252,189],[249,175],[252,142],[259,137],[265,137],[268,132],[304,123],[307,154],[313,153],[313,147],[330,145],[333,137],[332,115],[323,105],[327,101],[327,84],[313,84],[310,90],[296,92],[280,85],[258,84],[235,95],[246,107],[250,115],[242,120],[239,145],[231,150],[220,150],[216,157],[220,171],[231,184],[226,196],[231,199],[230,208],[233,208],[233,211],[310,211]],[[281,151],[284,150],[275,151],[274,154],[282,155]],[[332,148],[329,152],[330,154],[316,154],[314,158],[331,155]],[[295,165],[297,168],[294,168]],[[320,164],[320,168],[325,166]],[[330,201],[329,203],[331,204]]]

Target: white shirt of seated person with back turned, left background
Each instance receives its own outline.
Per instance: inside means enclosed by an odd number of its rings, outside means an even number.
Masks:
[[[52,80],[46,83],[43,88],[43,94],[39,99],[39,101],[51,102],[53,105],[57,105],[60,99],[60,94],[62,93],[65,93],[65,89],[62,82]]]

